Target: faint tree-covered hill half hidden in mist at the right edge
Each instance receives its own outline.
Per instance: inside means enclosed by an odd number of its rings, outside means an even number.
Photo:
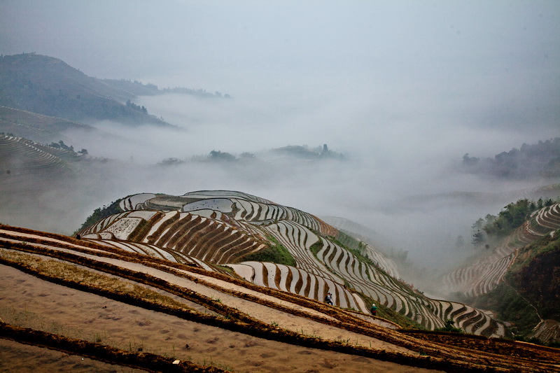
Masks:
[[[463,171],[498,178],[523,179],[532,177],[556,178],[560,176],[560,138],[539,141],[521,148],[513,148],[493,158],[463,155]]]

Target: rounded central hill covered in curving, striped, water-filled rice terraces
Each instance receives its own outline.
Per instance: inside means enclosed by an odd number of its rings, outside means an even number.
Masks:
[[[182,196],[144,193],[120,202],[113,214],[80,232],[99,243],[116,240],[158,246],[181,262],[186,254],[217,265],[260,286],[323,300],[367,313],[370,302],[406,316],[428,329],[448,319],[465,331],[493,337],[505,334],[490,314],[466,304],[432,300],[395,279],[396,267],[372,246],[341,244],[341,233],[309,213],[266,199],[230,191],[199,191]],[[244,260],[275,243],[295,265]]]

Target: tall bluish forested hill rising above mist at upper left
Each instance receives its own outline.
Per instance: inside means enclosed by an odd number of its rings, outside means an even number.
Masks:
[[[54,57],[0,57],[0,106],[86,123],[115,120],[172,127],[146,108],[125,104],[134,97]]]

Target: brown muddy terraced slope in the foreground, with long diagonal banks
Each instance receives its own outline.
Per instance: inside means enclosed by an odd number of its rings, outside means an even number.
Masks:
[[[67,362],[87,372],[102,369],[101,361],[166,372],[560,372],[554,349],[406,334],[206,265],[1,225],[0,367]],[[66,353],[64,362],[45,349]]]

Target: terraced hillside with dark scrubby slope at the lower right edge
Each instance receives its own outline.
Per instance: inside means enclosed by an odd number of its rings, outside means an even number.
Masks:
[[[494,248],[444,277],[449,294],[493,309],[519,337],[560,341],[560,204],[542,207]]]

